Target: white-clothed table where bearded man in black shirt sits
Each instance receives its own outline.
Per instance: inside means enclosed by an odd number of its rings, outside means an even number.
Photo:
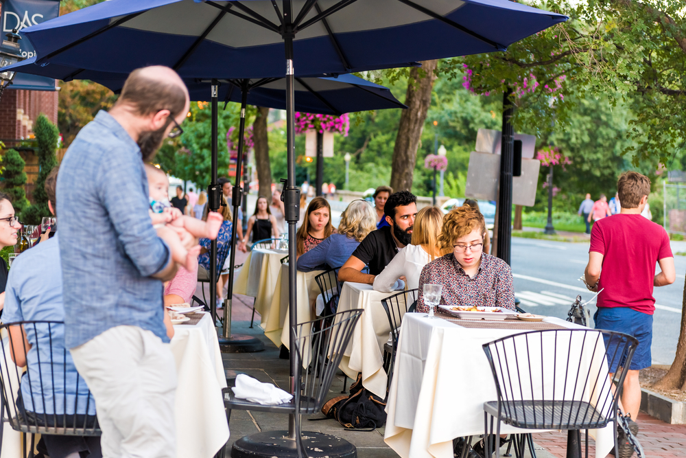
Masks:
[[[381,299],[397,293],[400,291],[380,293],[368,284],[345,282],[338,300],[338,312],[353,308],[364,310],[339,367],[353,379],[362,372],[362,385],[382,399],[386,398],[388,383],[383,370],[383,344],[390,338],[390,324]]]

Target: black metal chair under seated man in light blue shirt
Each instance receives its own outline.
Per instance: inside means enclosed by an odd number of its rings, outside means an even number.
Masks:
[[[23,371],[14,365],[10,350],[12,334],[9,332],[14,325],[23,325],[32,346],[27,349],[24,339],[18,345],[23,348],[27,360],[37,359],[37,367],[32,366],[30,370]],[[89,412],[95,413],[91,391],[76,373],[71,354],[64,348],[64,323],[19,321],[1,325],[0,332],[3,330],[9,336],[9,345],[2,345],[0,358],[0,444],[5,422],[14,431],[31,435],[28,448],[24,441],[23,455],[27,457],[34,456],[36,434],[84,437],[101,435],[97,417],[88,415]],[[49,360],[41,360],[41,357],[45,357],[46,346]],[[67,375],[67,371],[75,374],[73,378],[71,374]],[[75,393],[67,393],[67,383],[75,386]],[[27,397],[32,400],[28,409],[21,395],[21,386],[28,389]]]

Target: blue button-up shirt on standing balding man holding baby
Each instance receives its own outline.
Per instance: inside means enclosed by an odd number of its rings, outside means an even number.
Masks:
[[[141,150],[100,111],[69,146],[57,179],[67,348],[120,325],[169,341],[163,285],[151,275],[170,253],[149,209]]]

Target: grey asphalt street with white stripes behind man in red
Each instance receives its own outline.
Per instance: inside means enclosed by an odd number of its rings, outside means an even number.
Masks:
[[[672,243],[672,251],[684,251],[676,244],[678,242]],[[576,295],[581,295],[584,302],[591,299],[595,293],[587,290],[578,280],[586,268],[588,251],[587,243],[512,238],[514,291],[521,300],[521,308],[527,312],[566,319]],[[676,255],[674,264],[676,282],[654,290],[657,304],[653,316],[654,364],[671,364],[676,353],[686,257]],[[595,300],[591,301],[589,308],[593,319],[593,313],[597,310]]]

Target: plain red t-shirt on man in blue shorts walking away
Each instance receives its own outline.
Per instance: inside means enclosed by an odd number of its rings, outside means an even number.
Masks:
[[[595,222],[591,248],[603,255],[598,307],[629,307],[652,315],[655,264],[674,257],[662,226],[641,215],[617,214]]]

